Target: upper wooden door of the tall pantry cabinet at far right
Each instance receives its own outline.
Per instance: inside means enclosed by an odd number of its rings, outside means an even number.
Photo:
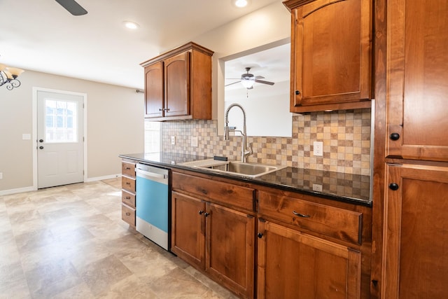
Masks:
[[[448,161],[448,2],[389,0],[386,156]]]

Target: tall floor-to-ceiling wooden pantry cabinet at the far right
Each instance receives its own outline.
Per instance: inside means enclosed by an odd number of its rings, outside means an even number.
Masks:
[[[372,298],[448,298],[447,15],[377,1]]]

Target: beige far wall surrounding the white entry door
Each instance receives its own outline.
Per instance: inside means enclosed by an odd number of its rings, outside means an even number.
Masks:
[[[19,88],[0,87],[0,195],[33,187],[36,137],[22,140],[22,134],[33,132],[33,87],[87,94],[87,180],[120,174],[118,154],[143,151],[143,94],[36,71],[26,70],[19,78]]]

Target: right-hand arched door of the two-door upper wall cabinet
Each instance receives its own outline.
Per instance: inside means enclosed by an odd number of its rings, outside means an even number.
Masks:
[[[165,116],[189,114],[189,52],[165,60]]]

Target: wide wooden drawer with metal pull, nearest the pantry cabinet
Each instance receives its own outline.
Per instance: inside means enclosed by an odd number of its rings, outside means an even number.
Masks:
[[[362,213],[264,191],[259,191],[258,202],[260,216],[343,241],[361,243]]]

